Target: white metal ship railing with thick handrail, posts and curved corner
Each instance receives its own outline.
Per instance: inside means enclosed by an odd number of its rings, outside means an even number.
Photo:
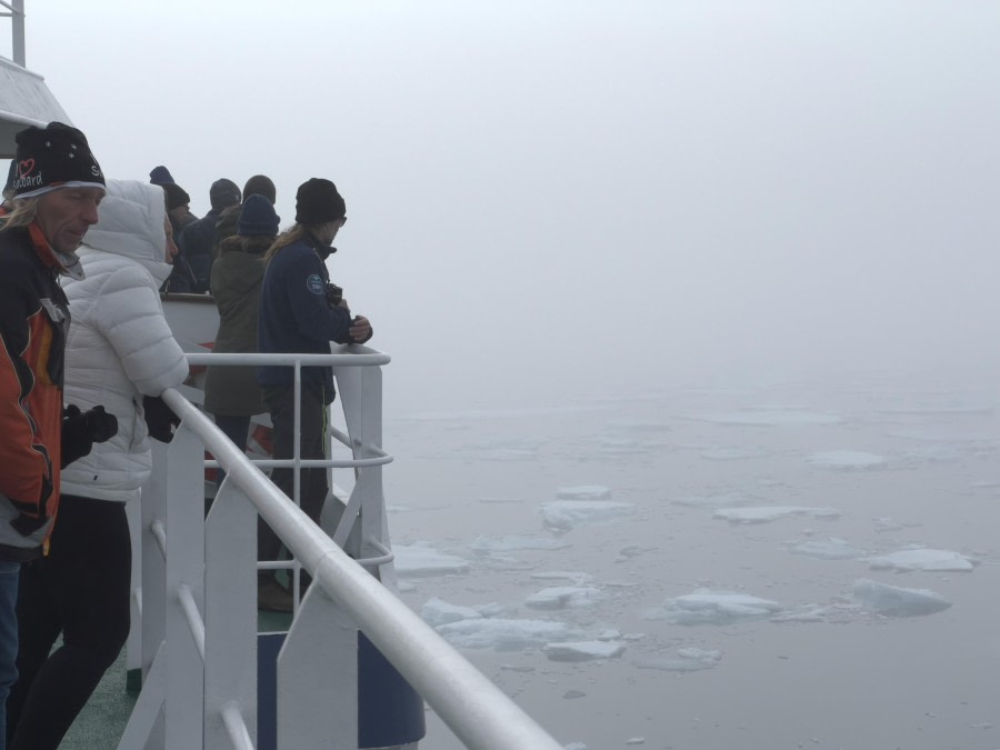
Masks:
[[[157,443],[142,491],[143,686],[119,749],[256,746],[258,513],[313,577],[278,658],[279,749],[358,747],[358,629],[467,748],[561,748],[380,582],[393,574],[381,488],[381,467],[391,459],[381,450],[380,366],[389,358],[364,347],[334,350],[341,353],[189,356],[192,366],[294,363],[297,374],[303,364],[333,367],[347,423],[339,438],[352,458],[298,461],[356,470],[332,533],[289,502],[181,392],[164,392],[182,421],[169,446]],[[206,450],[227,472],[207,518]]]

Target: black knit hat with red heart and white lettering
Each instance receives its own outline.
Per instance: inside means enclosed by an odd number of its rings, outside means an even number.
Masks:
[[[62,122],[31,126],[16,137],[14,198],[33,198],[59,188],[103,188],[104,176],[87,137]]]

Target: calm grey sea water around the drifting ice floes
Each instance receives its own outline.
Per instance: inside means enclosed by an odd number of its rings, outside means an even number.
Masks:
[[[468,561],[460,573],[402,577],[402,596],[417,611],[434,597],[496,602],[507,617],[564,622],[588,637],[618,631],[626,650],[611,659],[554,661],[541,644],[461,648],[564,744],[998,748],[994,404],[986,388],[871,377],[389,419],[393,542]],[[607,488],[607,501],[628,507],[606,509],[601,522],[546,528],[548,503],[560,490],[580,501],[579,488]],[[797,510],[757,523],[716,517],[779,507]],[[566,546],[524,549],[523,537]],[[793,553],[807,542],[864,554]],[[871,569],[869,557],[911,548],[956,552],[974,567]],[[951,607],[871,612],[852,594],[859,579],[927,589]],[[596,589],[586,606],[524,603],[572,581]],[[650,618],[699,589],[780,610],[700,624]],[[686,653],[712,656],[681,671]],[[429,712],[421,747],[462,746]]]

